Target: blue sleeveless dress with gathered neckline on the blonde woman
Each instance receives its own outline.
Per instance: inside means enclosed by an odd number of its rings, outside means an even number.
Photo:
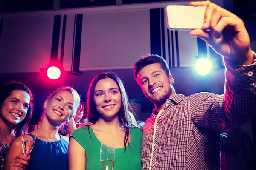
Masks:
[[[36,138],[26,170],[67,170],[67,147],[68,142],[62,136],[55,142]]]

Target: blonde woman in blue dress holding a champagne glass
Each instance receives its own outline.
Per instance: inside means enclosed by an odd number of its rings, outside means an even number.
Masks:
[[[14,139],[6,153],[4,170],[67,170],[68,138],[58,134],[61,125],[75,116],[80,96],[71,87],[55,90],[44,102],[44,113],[32,152],[22,150],[22,136]],[[33,134],[33,133],[32,133]]]

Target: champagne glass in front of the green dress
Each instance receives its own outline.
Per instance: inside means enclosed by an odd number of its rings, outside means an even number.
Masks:
[[[102,143],[100,146],[100,163],[102,170],[113,170],[115,163],[115,144]]]

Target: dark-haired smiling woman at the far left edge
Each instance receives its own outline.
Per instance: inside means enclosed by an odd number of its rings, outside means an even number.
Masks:
[[[0,170],[3,170],[5,153],[15,137],[29,124],[33,111],[33,94],[21,82],[9,82],[0,87],[0,128],[5,131],[0,151]]]

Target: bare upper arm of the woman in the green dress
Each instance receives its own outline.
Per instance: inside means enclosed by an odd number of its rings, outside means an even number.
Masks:
[[[85,170],[85,149],[73,137],[70,137],[67,153],[69,170]]]

